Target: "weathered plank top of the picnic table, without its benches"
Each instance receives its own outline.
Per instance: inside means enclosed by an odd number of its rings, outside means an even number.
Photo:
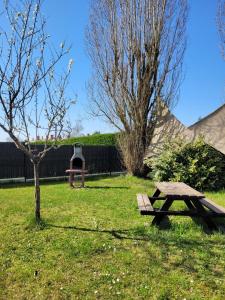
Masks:
[[[204,198],[204,194],[196,191],[183,182],[157,182],[157,189],[167,197],[176,199]]]

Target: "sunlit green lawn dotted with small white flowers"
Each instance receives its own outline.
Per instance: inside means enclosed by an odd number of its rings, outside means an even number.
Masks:
[[[0,299],[225,299],[222,233],[187,217],[150,226],[135,196],[148,180],[86,185],[42,185],[38,227],[33,187],[0,189]],[[225,205],[224,191],[207,196]]]

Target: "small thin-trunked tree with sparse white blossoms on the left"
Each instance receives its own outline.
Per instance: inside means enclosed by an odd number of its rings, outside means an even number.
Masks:
[[[17,6],[15,1],[5,1],[2,18],[5,28],[0,29],[0,128],[33,163],[35,217],[39,222],[39,165],[54,147],[48,143],[50,135],[57,132],[57,140],[66,129],[70,99],[65,90],[73,61],[64,72],[57,68],[68,49],[64,43],[59,50],[50,46],[41,0],[18,1]],[[31,137],[39,134],[45,136],[41,148],[31,142]]]

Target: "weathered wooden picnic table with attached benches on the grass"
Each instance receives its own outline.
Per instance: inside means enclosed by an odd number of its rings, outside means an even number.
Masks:
[[[155,216],[152,224],[158,225],[165,216],[196,216],[201,217],[210,229],[218,229],[212,217],[225,217],[225,208],[207,199],[183,182],[157,182],[156,190],[151,197],[147,194],[137,194],[138,207],[141,215]],[[162,194],[162,195],[161,195]],[[153,205],[163,200],[160,208]],[[187,210],[169,210],[174,201],[183,201]]]

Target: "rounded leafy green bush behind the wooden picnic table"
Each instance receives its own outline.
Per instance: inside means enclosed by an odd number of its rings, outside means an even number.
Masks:
[[[225,156],[202,138],[192,143],[175,140],[164,145],[162,153],[145,163],[157,181],[183,181],[198,190],[225,186]]]

